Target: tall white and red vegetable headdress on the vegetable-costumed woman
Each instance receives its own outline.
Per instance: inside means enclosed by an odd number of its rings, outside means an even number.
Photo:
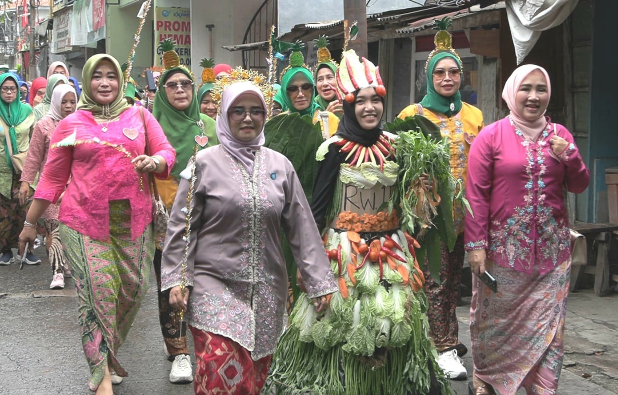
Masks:
[[[358,55],[353,49],[344,51],[341,54],[341,64],[339,69],[337,69],[336,77],[337,85],[345,94],[345,101],[349,103],[354,101],[355,91],[369,88],[370,86],[376,89],[376,93],[381,98],[386,96],[386,88],[384,88],[382,83],[378,66],[364,57],[362,62],[358,60]]]

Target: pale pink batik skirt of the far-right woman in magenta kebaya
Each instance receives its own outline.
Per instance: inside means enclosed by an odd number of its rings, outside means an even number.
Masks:
[[[474,276],[470,340],[474,374],[496,393],[554,395],[564,355],[570,260],[540,275],[488,262],[493,293]]]

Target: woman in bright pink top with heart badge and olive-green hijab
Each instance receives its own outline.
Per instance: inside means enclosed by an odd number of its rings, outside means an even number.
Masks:
[[[77,289],[88,387],[96,395],[112,395],[112,383],[127,376],[117,352],[148,289],[155,253],[145,173],[166,178],[176,152],[150,112],[127,104],[116,59],[90,57],[82,81],[77,111],[51,136],[19,248],[32,246],[34,224],[64,193],[58,220]],[[145,154],[146,138],[153,156]]]

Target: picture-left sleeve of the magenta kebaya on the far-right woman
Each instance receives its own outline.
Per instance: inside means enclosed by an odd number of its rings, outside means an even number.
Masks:
[[[466,251],[488,247],[489,202],[493,183],[494,154],[491,147],[493,127],[481,130],[470,146],[466,199],[472,214],[465,217],[464,241]]]

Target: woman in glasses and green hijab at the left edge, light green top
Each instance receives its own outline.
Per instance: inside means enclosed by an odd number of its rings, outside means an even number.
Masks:
[[[15,261],[11,249],[17,247],[17,238],[28,209],[27,203],[20,204],[17,192],[20,171],[13,167],[11,156],[28,151],[34,117],[32,108],[19,100],[17,80],[11,73],[0,75],[0,95],[0,265],[10,265]],[[11,150],[6,139],[7,132]],[[26,255],[27,264],[39,262],[41,260],[32,252]]]

